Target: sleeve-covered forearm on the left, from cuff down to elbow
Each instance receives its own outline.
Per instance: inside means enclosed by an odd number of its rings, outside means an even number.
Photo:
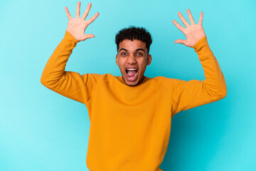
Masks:
[[[58,83],[65,73],[65,65],[78,41],[65,31],[65,36],[50,56],[41,76],[41,83],[50,87]]]

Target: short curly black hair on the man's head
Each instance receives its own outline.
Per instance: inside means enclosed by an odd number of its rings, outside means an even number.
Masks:
[[[152,38],[149,31],[146,31],[146,28],[129,26],[128,28],[123,28],[122,30],[118,31],[118,33],[115,36],[115,43],[117,44],[117,52],[119,48],[119,43],[122,42],[124,39],[129,39],[131,41],[136,39],[136,40],[145,42],[146,49],[148,50],[148,54],[149,54],[149,47],[152,43]]]

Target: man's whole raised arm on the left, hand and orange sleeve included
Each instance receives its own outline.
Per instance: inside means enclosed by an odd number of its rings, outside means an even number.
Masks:
[[[78,2],[74,19],[70,16],[68,8],[65,8],[69,19],[68,28],[65,31],[63,40],[55,48],[55,51],[46,63],[41,76],[43,86],[65,97],[85,104],[90,100],[92,89],[96,83],[94,76],[92,74],[83,74],[80,76],[80,73],[65,71],[65,65],[73,48],[75,48],[79,41],[94,37],[92,34],[84,33],[85,28],[99,15],[97,13],[91,19],[84,21],[90,10],[90,6],[91,4],[87,6],[82,18],[79,18],[80,2]]]

